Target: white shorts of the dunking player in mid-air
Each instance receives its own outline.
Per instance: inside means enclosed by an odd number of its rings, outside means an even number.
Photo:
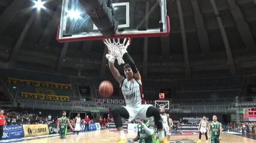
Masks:
[[[123,106],[129,113],[129,122],[134,119],[144,119],[148,120],[149,118],[146,116],[147,108],[153,106],[151,104],[142,104],[137,106]]]

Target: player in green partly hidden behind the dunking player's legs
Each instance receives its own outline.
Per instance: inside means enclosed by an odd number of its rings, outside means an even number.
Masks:
[[[157,143],[159,139],[155,138],[156,128],[152,120],[136,120],[138,123],[138,135],[132,139],[132,142],[138,141],[139,143]]]

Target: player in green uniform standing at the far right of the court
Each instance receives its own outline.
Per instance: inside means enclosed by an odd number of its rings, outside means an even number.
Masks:
[[[219,143],[221,141],[222,127],[221,123],[217,121],[217,116],[212,116],[213,122],[209,125],[210,143]]]

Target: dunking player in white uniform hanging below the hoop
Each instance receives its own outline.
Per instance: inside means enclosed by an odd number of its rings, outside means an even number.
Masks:
[[[109,48],[109,53],[112,52]],[[125,77],[121,76],[115,65],[109,61],[109,69],[115,79],[118,81],[122,94],[124,95],[126,106],[114,108],[112,113],[116,128],[119,133],[119,143],[127,142],[122,125],[122,117],[129,119],[129,122],[134,119],[145,119],[154,117],[155,125],[159,132],[159,139],[161,142],[167,142],[162,128],[162,120],[157,108],[153,105],[144,104],[142,93],[142,82],[140,72],[138,71],[131,55],[126,52],[123,55],[125,61],[124,73]]]

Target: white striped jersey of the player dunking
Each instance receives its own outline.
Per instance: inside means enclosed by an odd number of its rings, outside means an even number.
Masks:
[[[141,105],[142,86],[134,79],[134,77],[129,81],[124,79],[121,89],[127,106],[134,107],[136,105]]]

